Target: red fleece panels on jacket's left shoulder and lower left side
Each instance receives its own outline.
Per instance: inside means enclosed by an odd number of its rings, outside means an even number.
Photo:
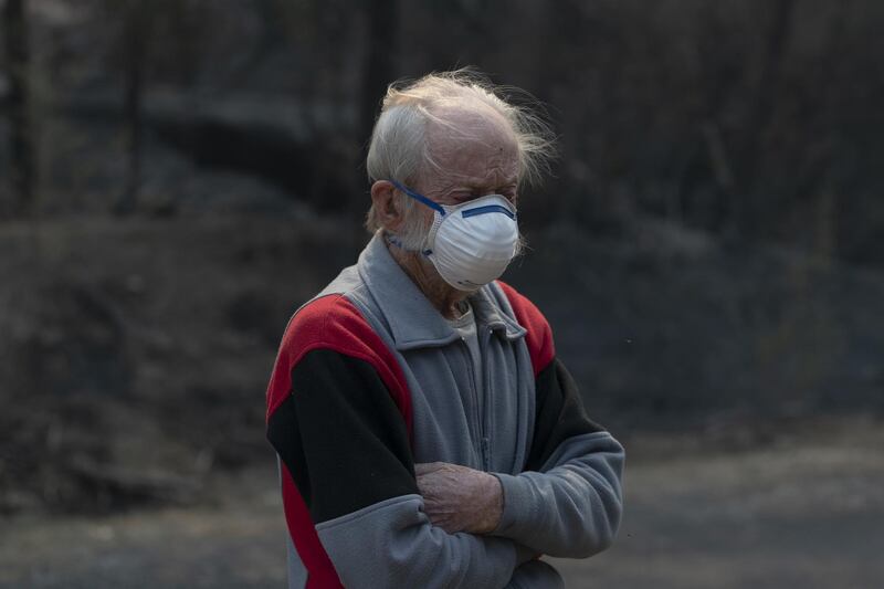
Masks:
[[[292,368],[314,349],[330,349],[369,362],[390,391],[411,439],[411,396],[402,369],[356,306],[339,294],[312,301],[288,323],[267,386],[267,423],[290,393],[297,395],[292,389]],[[295,549],[307,569],[307,587],[343,587],[332,559],[319,541],[309,509],[284,464],[282,487],[285,520]]]

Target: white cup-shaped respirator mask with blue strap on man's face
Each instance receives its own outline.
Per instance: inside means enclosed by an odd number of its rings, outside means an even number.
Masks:
[[[501,194],[462,204],[440,204],[396,180],[390,182],[433,209],[423,254],[439,275],[459,291],[475,291],[501,276],[516,255],[518,223],[513,203]],[[401,245],[392,236],[394,245]]]

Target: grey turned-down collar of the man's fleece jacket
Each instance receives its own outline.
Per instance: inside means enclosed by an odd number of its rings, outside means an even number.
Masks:
[[[375,233],[357,263],[359,276],[390,326],[398,350],[444,346],[460,338],[449,322],[393,260],[381,232]],[[496,286],[495,290],[499,291]],[[502,293],[499,296],[504,296]],[[501,337],[516,339],[525,329],[495,299],[492,286],[470,295],[476,326]]]

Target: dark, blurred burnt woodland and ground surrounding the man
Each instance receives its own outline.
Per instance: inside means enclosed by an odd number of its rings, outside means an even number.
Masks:
[[[884,3],[0,0],[0,586],[282,587],[264,390],[388,83],[559,137],[506,280],[628,448],[569,587],[884,578]]]

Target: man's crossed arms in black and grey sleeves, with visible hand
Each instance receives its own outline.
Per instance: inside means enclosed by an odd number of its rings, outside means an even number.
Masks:
[[[316,349],[267,437],[348,587],[504,587],[539,554],[585,557],[613,540],[623,450],[592,423],[554,360],[537,376],[525,472],[415,466],[373,367]]]

